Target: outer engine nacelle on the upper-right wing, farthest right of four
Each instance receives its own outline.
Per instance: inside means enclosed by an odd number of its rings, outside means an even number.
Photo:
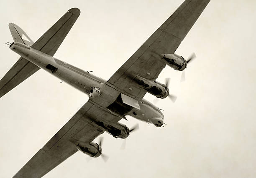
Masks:
[[[161,54],[161,59],[174,70],[181,71],[187,67],[187,61],[177,54]]]

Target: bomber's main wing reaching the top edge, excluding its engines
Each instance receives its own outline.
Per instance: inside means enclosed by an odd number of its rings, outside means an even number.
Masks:
[[[133,78],[139,75],[149,80],[156,80],[165,67],[159,55],[172,54],[176,51],[209,2],[210,0],[185,0],[118,69],[108,80],[108,84],[136,100],[143,98],[146,92],[133,86]]]

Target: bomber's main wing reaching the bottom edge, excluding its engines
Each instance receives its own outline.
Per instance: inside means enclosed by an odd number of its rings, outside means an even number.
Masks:
[[[79,142],[89,143],[104,131],[96,125],[118,122],[121,118],[100,109],[91,100],[80,110],[19,170],[14,178],[41,178],[61,162],[77,152]],[[74,143],[74,140],[77,140]],[[72,142],[73,141],[73,142]],[[87,155],[86,155],[87,156]]]

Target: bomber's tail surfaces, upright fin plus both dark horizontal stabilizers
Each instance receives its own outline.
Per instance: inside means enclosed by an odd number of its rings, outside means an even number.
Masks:
[[[69,9],[35,43],[18,25],[10,23],[9,28],[15,42],[29,45],[36,50],[53,56],[79,15],[80,10],[78,8]],[[0,80],[0,98],[39,69],[38,66],[21,57]]]

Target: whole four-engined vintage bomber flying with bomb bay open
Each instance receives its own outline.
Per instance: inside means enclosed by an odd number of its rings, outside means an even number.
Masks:
[[[156,79],[166,65],[182,71],[192,60],[186,60],[174,52],[209,2],[185,0],[108,80],[54,58],[56,50],[80,15],[78,8],[68,10],[35,43],[18,25],[10,23],[14,42],[6,44],[21,57],[0,80],[0,97],[39,69],[89,96],[87,103],[14,178],[40,178],[78,150],[91,157],[99,157],[102,155],[102,139],[99,143],[93,142],[99,135],[107,132],[115,138],[125,139],[138,128],[129,129],[119,122],[127,115],[162,127],[163,113],[143,97],[150,93],[156,98],[176,99],[169,94],[168,81],[162,84]]]

